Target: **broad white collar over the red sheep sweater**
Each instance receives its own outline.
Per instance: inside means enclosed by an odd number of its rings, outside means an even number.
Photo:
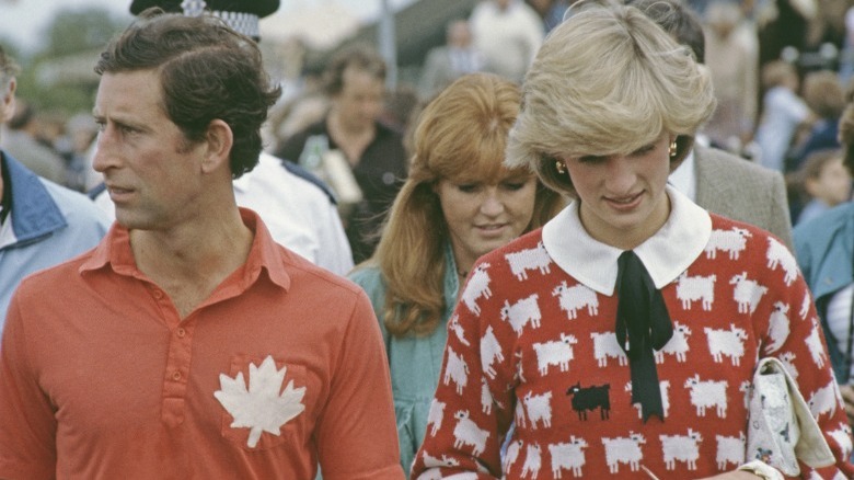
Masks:
[[[662,288],[684,272],[705,249],[712,236],[712,217],[672,186],[670,217],[634,252],[644,262],[656,288]],[[566,273],[611,296],[616,284],[616,260],[622,250],[595,240],[578,217],[574,201],[543,227],[543,245]]]

